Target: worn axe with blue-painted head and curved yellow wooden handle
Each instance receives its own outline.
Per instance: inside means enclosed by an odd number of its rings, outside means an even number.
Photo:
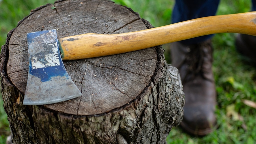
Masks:
[[[81,96],[62,60],[120,54],[216,33],[256,35],[256,12],[210,16],[123,34],[82,34],[57,39],[56,30],[27,34],[29,72],[24,105]]]

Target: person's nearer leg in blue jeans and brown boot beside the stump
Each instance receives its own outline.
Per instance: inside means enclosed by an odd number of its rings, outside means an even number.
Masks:
[[[219,0],[176,0],[172,23],[215,15]],[[212,35],[172,43],[172,65],[179,69],[185,93],[181,126],[206,135],[216,124],[216,90],[212,74]]]

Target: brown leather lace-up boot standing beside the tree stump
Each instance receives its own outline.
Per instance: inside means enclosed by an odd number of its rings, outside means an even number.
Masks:
[[[172,65],[179,69],[185,93],[181,126],[191,134],[207,135],[216,125],[211,40],[194,45],[172,43],[171,55]]]

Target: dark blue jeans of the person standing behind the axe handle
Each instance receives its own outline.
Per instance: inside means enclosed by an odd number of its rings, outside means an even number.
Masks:
[[[216,14],[220,0],[176,0],[172,13],[172,23],[213,16]],[[252,11],[256,11],[256,0],[252,0]],[[203,42],[213,35],[206,35],[180,41],[183,44]]]

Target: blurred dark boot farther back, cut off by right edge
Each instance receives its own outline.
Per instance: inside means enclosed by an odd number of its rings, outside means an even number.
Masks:
[[[256,66],[256,36],[238,34],[236,47],[238,52],[249,57]]]

